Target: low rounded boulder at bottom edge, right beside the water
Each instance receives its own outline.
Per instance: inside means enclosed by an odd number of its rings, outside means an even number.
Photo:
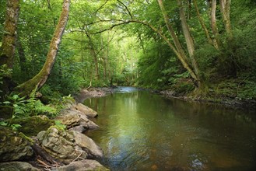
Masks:
[[[80,160],[76,162],[72,162],[67,166],[61,166],[56,169],[56,171],[70,171],[70,170],[75,170],[75,171],[109,171],[110,169],[105,168],[100,164],[100,162],[97,162],[96,160],[90,160],[90,159],[85,159],[85,160]]]

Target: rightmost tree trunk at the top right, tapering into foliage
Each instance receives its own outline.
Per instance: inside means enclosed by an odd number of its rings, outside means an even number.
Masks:
[[[231,33],[232,29],[231,29],[231,23],[230,23],[231,0],[219,0],[219,4],[220,4],[220,12],[222,13],[222,16],[223,16],[223,23],[225,26],[226,33],[228,33],[228,35],[232,37],[232,33]]]

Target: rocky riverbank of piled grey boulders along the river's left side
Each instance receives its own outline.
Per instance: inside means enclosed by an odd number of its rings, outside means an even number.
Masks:
[[[102,89],[81,90],[75,99],[82,102],[92,96],[105,96],[106,92]],[[30,137],[7,127],[0,127],[0,168],[53,171],[109,170],[93,160],[103,157],[102,149],[86,134],[82,134],[84,131],[99,127],[90,120],[96,116],[96,111],[88,106],[70,101],[54,121],[49,121],[50,124],[43,121],[49,120],[46,116],[36,116],[33,119],[31,117],[30,120],[39,121],[28,128],[33,130],[29,131],[32,134]],[[39,132],[36,131],[38,127]]]

